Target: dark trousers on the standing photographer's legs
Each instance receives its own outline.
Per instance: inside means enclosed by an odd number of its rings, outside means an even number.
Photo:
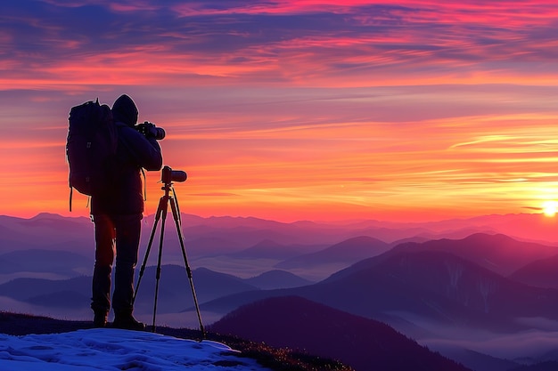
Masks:
[[[134,270],[140,242],[142,214],[95,214],[93,221],[95,263],[91,308],[94,311],[106,312],[111,309],[111,273],[116,253],[112,309],[115,313],[132,313]]]

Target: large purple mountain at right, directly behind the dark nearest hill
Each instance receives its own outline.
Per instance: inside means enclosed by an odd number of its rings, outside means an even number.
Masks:
[[[392,324],[407,321],[419,325],[437,323],[445,327],[516,331],[525,328],[517,322],[518,318],[558,319],[557,290],[518,283],[448,253],[459,251],[459,246],[474,250],[480,248],[472,245],[475,242],[497,243],[501,239],[479,235],[464,240],[440,240],[436,249],[428,248],[430,242],[424,246],[398,246],[357,262],[316,285],[239,293],[208,302],[205,308],[225,314],[266,297],[294,294]],[[531,245],[513,243],[511,246]]]

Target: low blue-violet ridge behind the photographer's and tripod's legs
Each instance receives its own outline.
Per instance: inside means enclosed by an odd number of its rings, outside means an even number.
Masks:
[[[156,267],[148,266],[137,290],[137,312],[151,312]],[[136,276],[139,270],[136,271]],[[15,278],[0,285],[0,296],[49,308],[86,309],[90,305],[91,277],[68,279]],[[137,283],[138,278],[135,279]],[[238,278],[205,268],[193,270],[193,282],[200,302],[229,294],[250,292],[260,288],[304,286],[309,282],[292,273],[272,270],[253,278]],[[184,266],[163,265],[160,273],[158,311],[177,313],[193,305],[193,294]]]

